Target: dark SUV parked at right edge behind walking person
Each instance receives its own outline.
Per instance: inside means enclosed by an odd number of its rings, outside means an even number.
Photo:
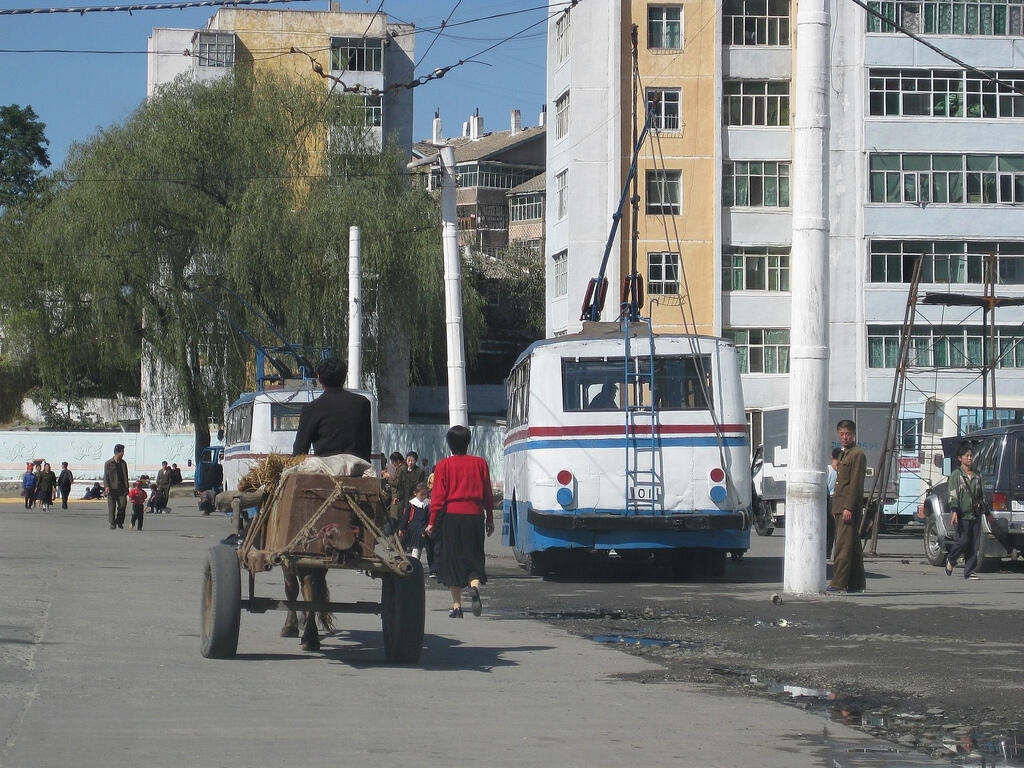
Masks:
[[[947,476],[956,461],[956,446],[964,440],[974,451],[974,469],[984,478],[985,500],[994,519],[994,530],[987,518],[982,519],[978,567],[992,569],[1000,558],[1024,554],[1024,424],[943,438],[943,473]],[[932,565],[945,565],[946,553],[956,538],[951,517],[943,481],[925,497],[925,555]]]

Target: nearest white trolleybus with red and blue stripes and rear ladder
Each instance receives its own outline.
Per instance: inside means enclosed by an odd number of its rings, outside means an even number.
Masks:
[[[750,547],[736,348],[644,325],[588,324],[512,369],[502,542],[531,573],[588,556],[720,575]]]

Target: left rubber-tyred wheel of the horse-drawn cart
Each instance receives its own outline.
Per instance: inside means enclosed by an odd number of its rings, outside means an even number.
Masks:
[[[202,652],[206,658],[231,658],[239,648],[242,572],[232,547],[211,547],[203,568]]]

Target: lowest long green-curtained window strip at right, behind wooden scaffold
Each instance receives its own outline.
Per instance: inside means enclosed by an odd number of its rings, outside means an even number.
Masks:
[[[867,367],[896,368],[901,326],[867,327]],[[995,329],[996,367],[1024,368],[1024,329]],[[988,333],[982,326],[927,326],[910,334],[907,365],[920,368],[973,368],[987,364]]]

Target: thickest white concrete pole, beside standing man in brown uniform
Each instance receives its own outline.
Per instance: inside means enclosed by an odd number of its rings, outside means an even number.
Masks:
[[[828,407],[828,0],[797,6],[793,151],[793,309],[785,578],[815,594],[825,577]]]

